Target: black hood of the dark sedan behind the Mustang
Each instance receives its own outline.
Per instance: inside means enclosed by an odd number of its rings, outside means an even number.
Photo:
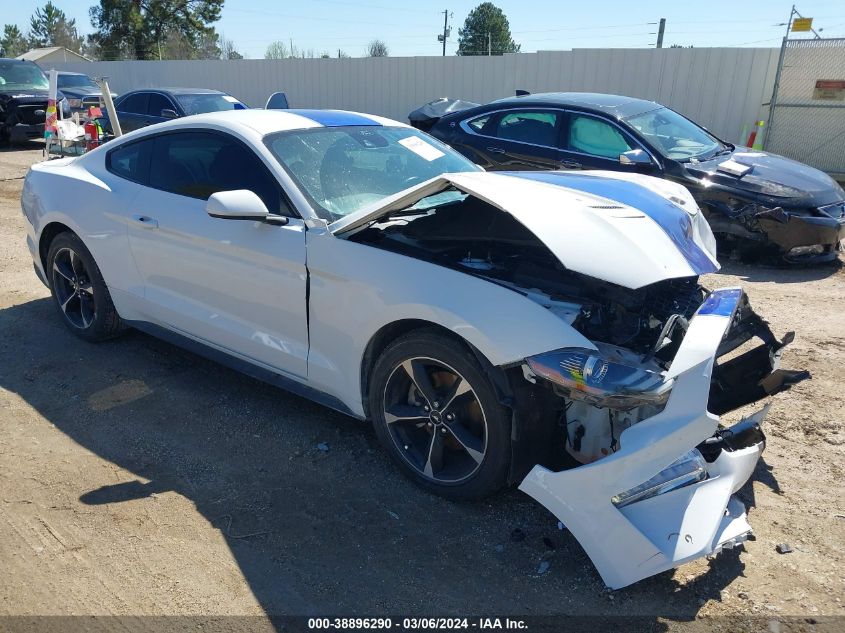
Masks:
[[[719,164],[729,159],[752,169],[742,177],[720,171]],[[730,156],[719,156],[697,164],[685,163],[685,167],[695,178],[706,178],[751,194],[791,199],[787,204],[819,206],[845,197],[842,188],[823,171],[747,147],[737,147]]]

